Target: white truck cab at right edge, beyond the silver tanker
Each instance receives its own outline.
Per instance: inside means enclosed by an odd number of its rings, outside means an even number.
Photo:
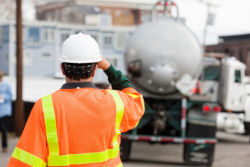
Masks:
[[[250,134],[250,84],[246,65],[227,54],[207,53],[201,94],[207,94],[221,106],[217,114],[217,130],[234,134]]]

